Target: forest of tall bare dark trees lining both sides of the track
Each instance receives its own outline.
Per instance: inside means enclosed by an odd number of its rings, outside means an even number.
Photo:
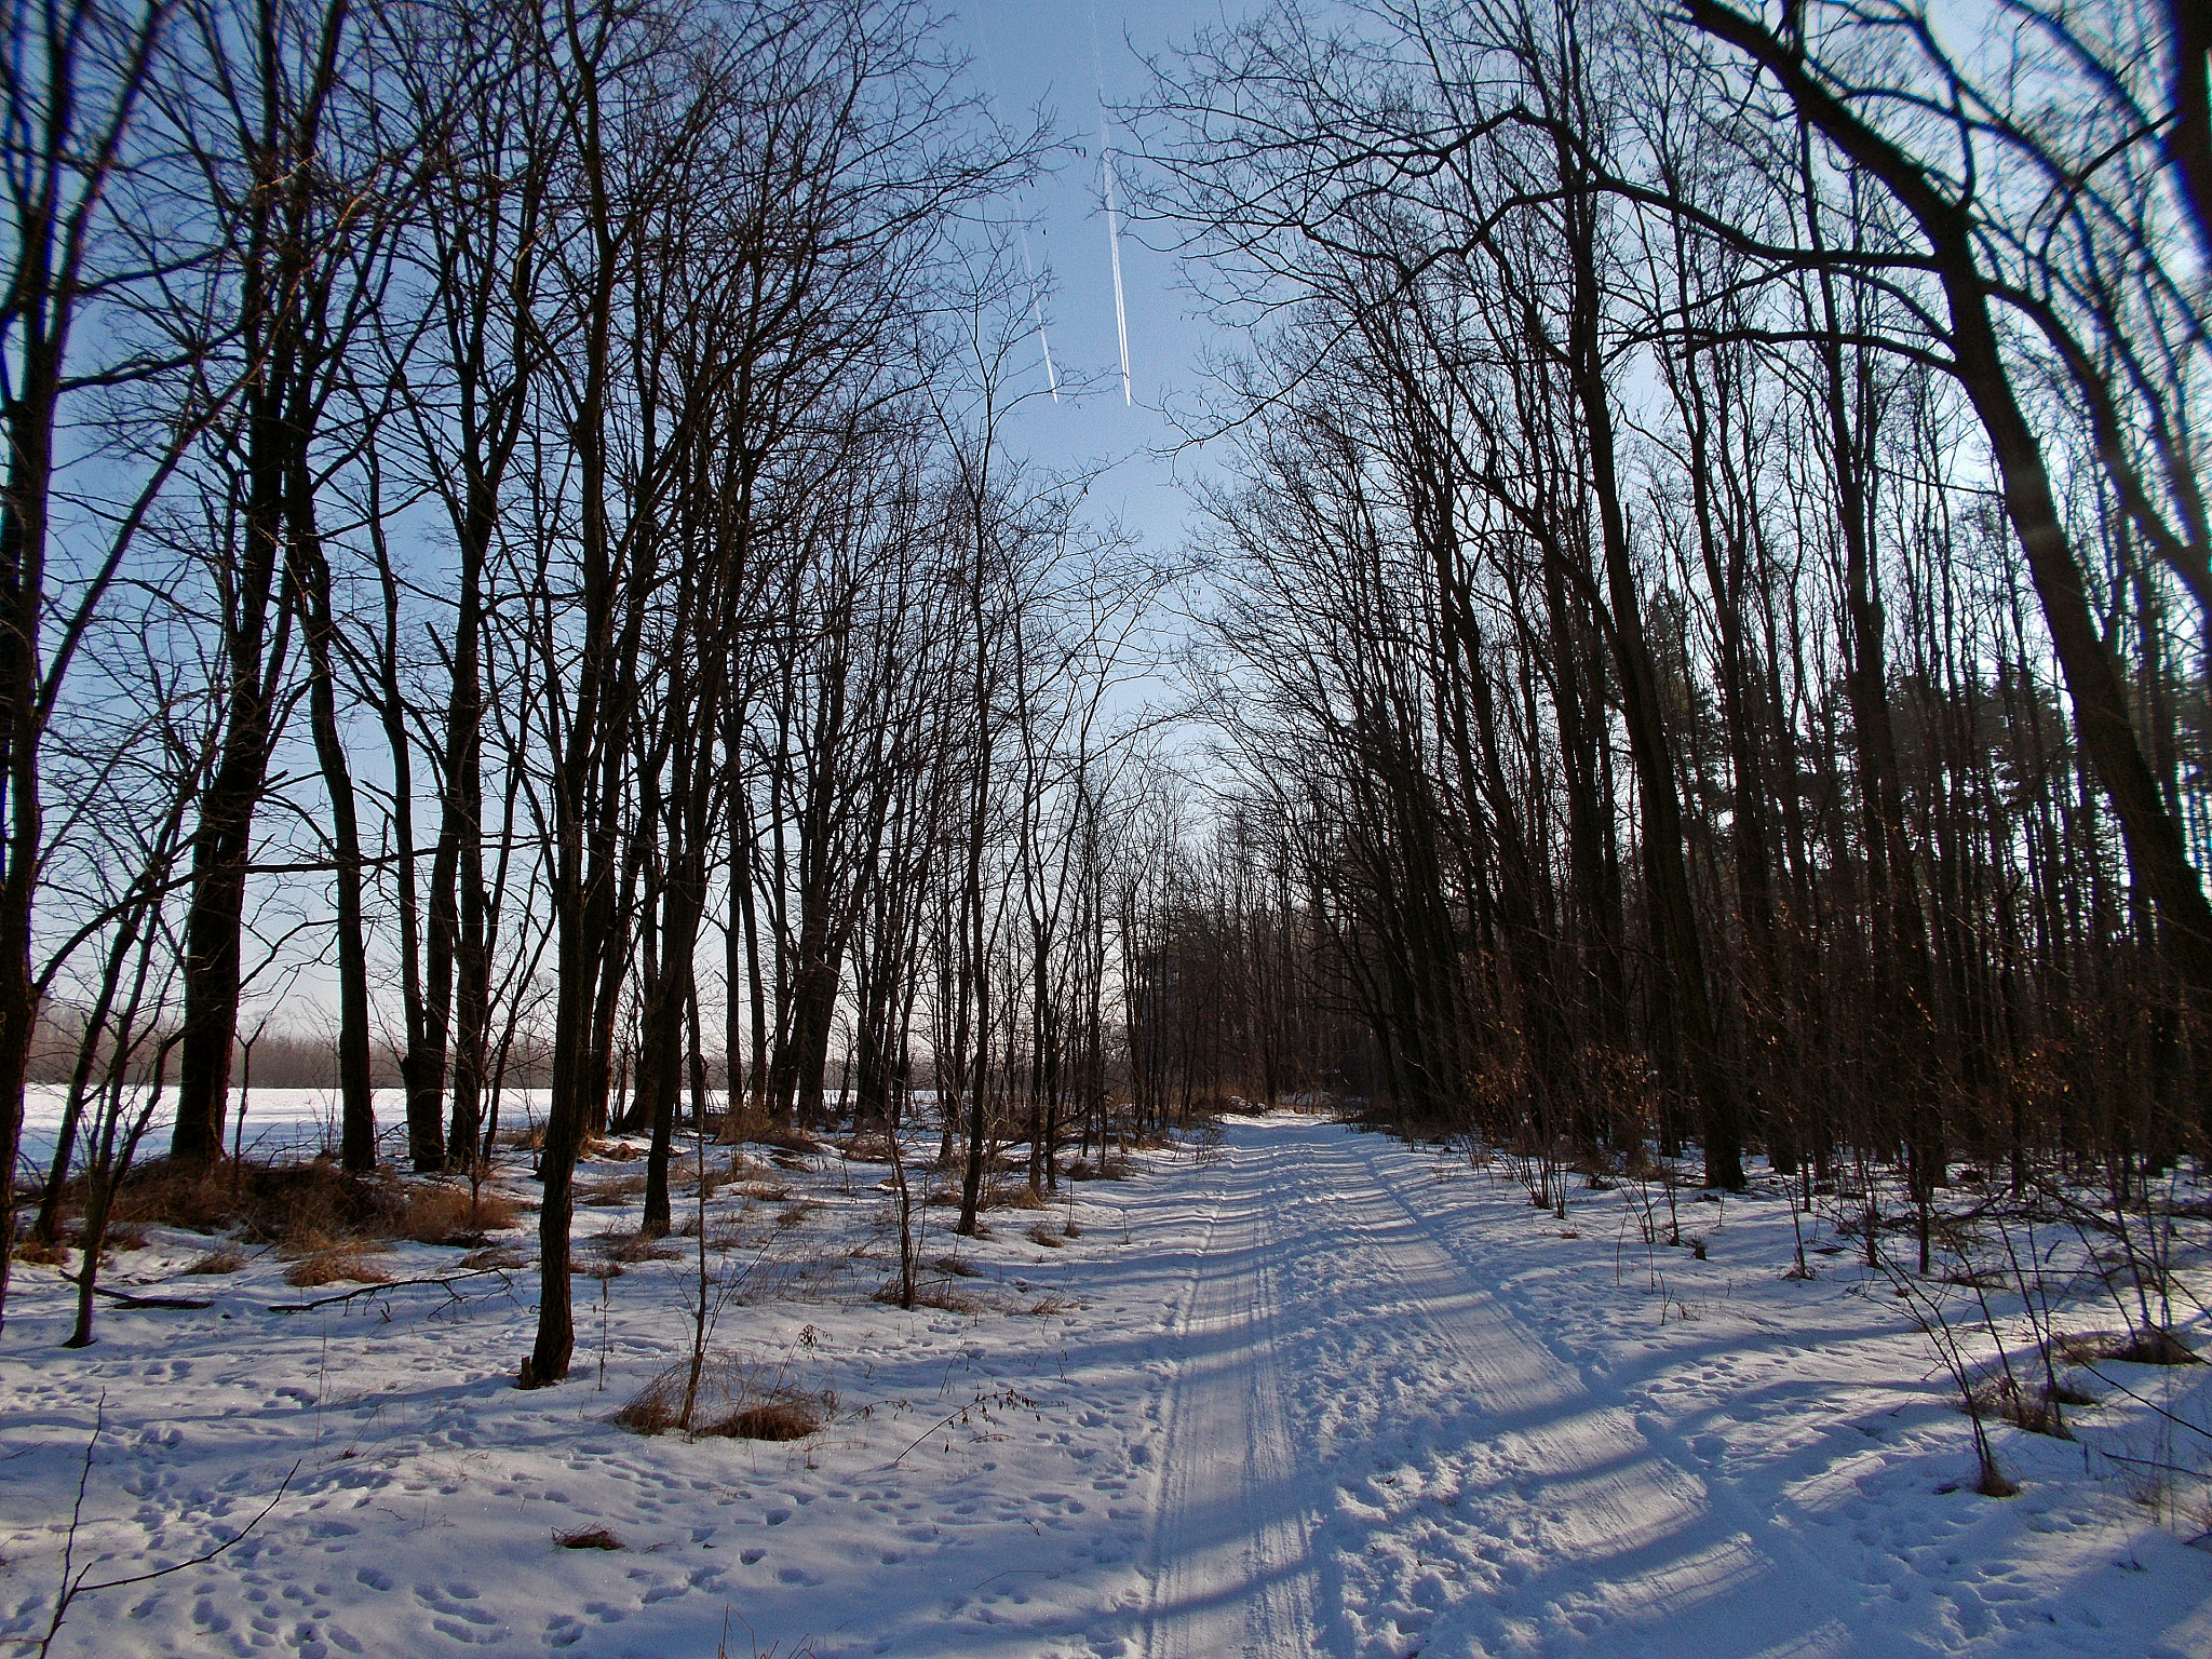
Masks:
[[[261,1046],[358,1192],[522,1159],[524,1389],[615,1141],[697,1389],[712,1148],[878,1148],[911,1312],[925,1175],[1281,1110],[2174,1323],[2203,4],[1279,0],[1104,157],[927,0],[0,4],[0,1318],[279,1179]],[[1172,544],[1046,420],[1099,161]]]

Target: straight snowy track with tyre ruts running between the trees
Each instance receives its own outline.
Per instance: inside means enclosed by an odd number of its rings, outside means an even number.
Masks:
[[[1422,1604],[1480,1575],[1473,1621],[1500,1650],[1893,1652],[1869,1597],[1717,1498],[1694,1453],[1648,1440],[1478,1283],[1422,1175],[1318,1128],[1232,1133],[1210,1166],[1188,1314],[1166,1327],[1144,1650],[1354,1652],[1378,1601],[1420,1644]],[[1394,1515],[1363,1486],[1433,1502]],[[1480,1542],[1469,1562],[1425,1555],[1431,1537]]]

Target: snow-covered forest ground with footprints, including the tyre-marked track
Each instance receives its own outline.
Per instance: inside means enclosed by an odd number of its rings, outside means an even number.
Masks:
[[[582,1279],[575,1376],[535,1394],[529,1272],[281,1314],[343,1285],[290,1290],[274,1256],[177,1276],[208,1241],[157,1232],[115,1283],[215,1305],[104,1307],[64,1352],[62,1283],[18,1267],[0,1635],[46,1626],[97,1411],[95,1579],[208,1548],[292,1475],[219,1559],[80,1599],[66,1655],[2212,1652],[2212,1553],[2181,1537],[2205,1522],[2117,1460],[2188,1447],[2099,1387],[2079,1442],[1995,1427],[2022,1493],[1973,1495],[1905,1305],[1849,1252],[1783,1279],[1783,1199],[1686,1203],[1697,1261],[1648,1252],[1621,1192],[1559,1223],[1458,1157],[1234,1119],[1217,1155],[933,1232],[973,1307],[902,1314],[869,1298],[883,1175],[816,1157],[774,1172],[790,1199],[714,1201],[741,1292],[717,1345],[836,1396],[792,1444],[611,1420],[684,1356],[690,1261],[628,1265],[604,1307]],[[580,1210],[628,1228],[635,1199]],[[2108,1367],[2199,1422],[2205,1369]],[[622,1548],[560,1548],[575,1528]]]

